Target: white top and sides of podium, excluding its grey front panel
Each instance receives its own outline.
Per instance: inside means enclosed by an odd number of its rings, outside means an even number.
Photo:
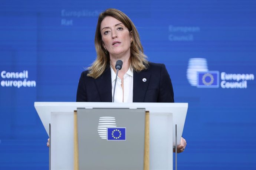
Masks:
[[[179,145],[188,103],[35,102],[35,108],[48,135],[51,125],[51,170],[74,169],[77,108],[145,108],[150,112],[150,170],[172,170],[175,125]]]

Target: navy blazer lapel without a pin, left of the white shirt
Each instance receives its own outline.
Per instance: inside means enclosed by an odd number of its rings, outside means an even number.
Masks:
[[[95,79],[95,83],[101,102],[112,102],[111,70],[109,67],[99,78]]]

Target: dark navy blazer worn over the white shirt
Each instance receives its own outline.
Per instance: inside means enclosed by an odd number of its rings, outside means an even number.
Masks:
[[[96,79],[87,74],[83,71],[79,79],[76,102],[112,102],[110,67]],[[173,85],[164,64],[150,62],[148,69],[134,71],[133,102],[174,102]]]

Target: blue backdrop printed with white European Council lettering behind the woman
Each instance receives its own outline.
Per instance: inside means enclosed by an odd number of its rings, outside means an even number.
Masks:
[[[149,60],[166,65],[175,102],[189,103],[178,169],[256,169],[255,0],[0,3],[0,169],[48,168],[34,102],[75,101],[110,7],[137,26]]]

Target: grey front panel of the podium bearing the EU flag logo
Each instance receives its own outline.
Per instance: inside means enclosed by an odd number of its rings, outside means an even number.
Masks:
[[[145,109],[78,108],[77,114],[80,170],[143,170]]]

